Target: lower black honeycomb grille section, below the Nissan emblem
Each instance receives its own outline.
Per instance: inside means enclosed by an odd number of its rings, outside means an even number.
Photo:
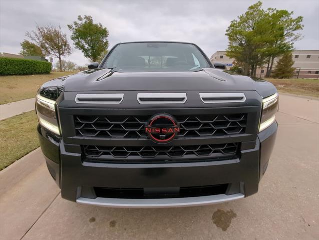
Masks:
[[[174,158],[218,160],[234,157],[238,152],[239,143],[188,145],[188,146],[127,146],[110,147],[84,145],[83,152],[86,160],[97,161],[139,161],[141,158],[163,160],[171,162]],[[184,157],[184,158],[183,158]],[[145,162],[143,159],[141,162]]]

